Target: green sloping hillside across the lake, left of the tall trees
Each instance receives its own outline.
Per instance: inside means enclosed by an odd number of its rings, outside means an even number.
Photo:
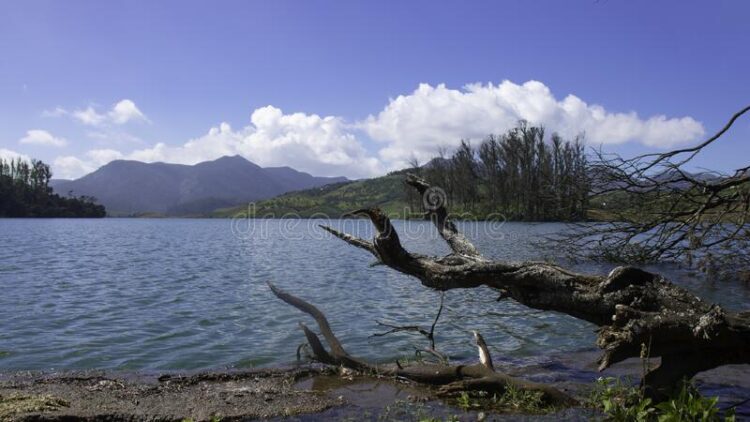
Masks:
[[[403,218],[404,202],[403,172],[391,173],[374,179],[342,182],[320,188],[290,192],[253,204],[254,216],[279,218],[283,216],[312,217],[323,214],[332,218],[359,208],[378,206],[389,216]],[[253,208],[241,205],[213,212],[213,217],[244,216]],[[250,211],[251,214],[253,211]]]

